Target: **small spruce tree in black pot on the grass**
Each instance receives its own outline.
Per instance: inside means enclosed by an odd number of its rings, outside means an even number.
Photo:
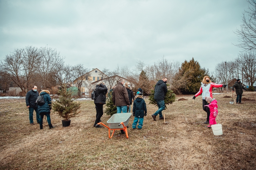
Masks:
[[[58,93],[60,97],[55,99],[56,101],[52,103],[52,109],[54,112],[57,112],[60,117],[63,117],[62,126],[68,127],[71,122],[70,118],[80,113],[78,109],[81,107],[81,103],[74,102],[76,98],[72,98],[72,93],[71,91],[67,91],[66,86],[61,88]]]

